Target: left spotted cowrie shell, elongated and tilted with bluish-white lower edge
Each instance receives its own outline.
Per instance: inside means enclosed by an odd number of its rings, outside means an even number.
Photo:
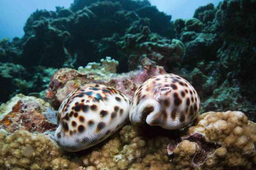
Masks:
[[[102,84],[85,84],[71,92],[57,114],[56,142],[66,150],[87,149],[128,121],[130,100]]]

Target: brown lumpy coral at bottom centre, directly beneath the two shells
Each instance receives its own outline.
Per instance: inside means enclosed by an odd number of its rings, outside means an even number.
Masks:
[[[85,156],[84,166],[114,170],[174,168],[166,154],[170,140],[163,136],[146,138],[141,133],[142,129],[138,126],[124,126],[119,137],[109,140],[101,149]]]

